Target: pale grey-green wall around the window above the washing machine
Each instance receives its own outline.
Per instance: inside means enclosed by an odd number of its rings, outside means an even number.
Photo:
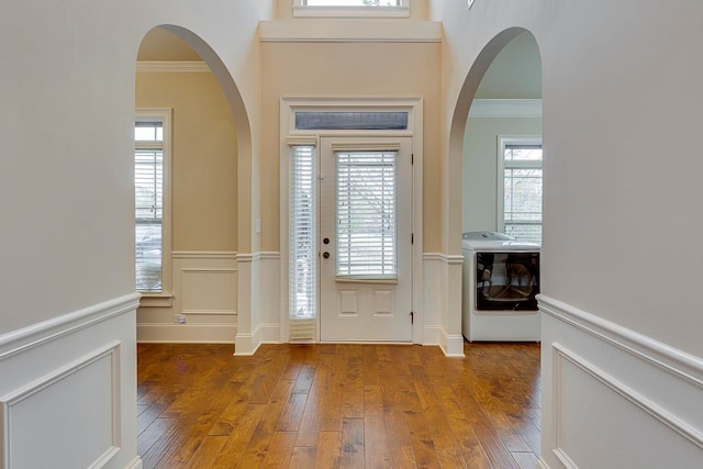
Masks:
[[[542,119],[469,118],[464,134],[462,232],[496,228],[499,135],[542,136]]]

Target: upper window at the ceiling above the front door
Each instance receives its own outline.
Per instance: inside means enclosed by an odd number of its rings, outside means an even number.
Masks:
[[[410,0],[294,0],[294,16],[408,18]]]

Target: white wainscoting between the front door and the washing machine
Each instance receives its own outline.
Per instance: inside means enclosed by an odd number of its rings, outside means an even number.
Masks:
[[[423,254],[423,345],[438,345],[448,357],[464,357],[462,263],[460,255]]]

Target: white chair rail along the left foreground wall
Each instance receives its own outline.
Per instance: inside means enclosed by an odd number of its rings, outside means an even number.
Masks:
[[[138,293],[125,294],[1,335],[0,360],[135,311],[140,305],[140,297]]]

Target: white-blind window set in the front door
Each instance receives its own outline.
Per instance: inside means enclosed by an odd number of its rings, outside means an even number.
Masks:
[[[338,152],[336,166],[336,276],[394,279],[398,152]]]

